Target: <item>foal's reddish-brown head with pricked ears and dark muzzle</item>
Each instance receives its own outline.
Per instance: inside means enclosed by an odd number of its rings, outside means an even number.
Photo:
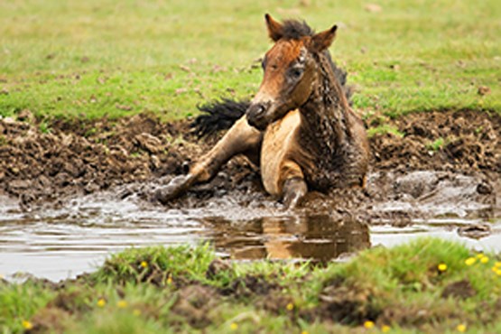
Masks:
[[[308,100],[318,79],[314,54],[329,48],[338,28],[312,34],[278,23],[269,14],[265,19],[275,43],[264,56],[263,82],[246,111],[249,125],[260,130]]]

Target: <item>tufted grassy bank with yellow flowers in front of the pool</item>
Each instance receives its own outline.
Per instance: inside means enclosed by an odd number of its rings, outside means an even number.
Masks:
[[[327,266],[227,263],[208,246],[112,255],[94,274],[0,284],[3,332],[494,333],[501,263],[439,239]]]

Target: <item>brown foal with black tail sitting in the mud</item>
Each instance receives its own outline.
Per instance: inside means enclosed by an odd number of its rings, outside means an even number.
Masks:
[[[273,47],[262,61],[264,77],[251,101],[224,99],[200,107],[199,134],[228,127],[189,172],[157,190],[166,204],[209,181],[237,154],[260,166],[264,190],[294,208],[309,190],[366,186],[369,145],[362,120],[350,106],[347,73],[331,60],[337,25],[315,33],[296,20],[265,14]]]

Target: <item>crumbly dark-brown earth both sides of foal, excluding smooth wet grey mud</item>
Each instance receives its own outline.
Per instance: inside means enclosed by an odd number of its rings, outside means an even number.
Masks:
[[[493,181],[501,174],[501,116],[459,111],[366,120],[370,126],[382,122],[404,136],[380,134],[371,138],[373,173],[440,171],[444,172],[442,178],[475,175],[478,193],[495,191]],[[18,120],[0,120],[0,194],[18,198],[29,208],[131,182],[165,182],[183,172],[190,158],[206,152],[217,139],[199,141],[190,135],[188,121],[166,124],[148,115],[119,121],[56,120],[47,125],[23,111]],[[439,139],[443,139],[440,147],[432,148]],[[435,178],[425,174],[417,177]],[[420,182],[405,178],[399,182],[401,192],[414,198],[426,191],[416,184]],[[231,190],[263,192],[257,169],[243,158],[228,163],[209,185],[199,186],[196,200]],[[125,190],[123,196],[127,195]],[[385,197],[385,193],[373,195]],[[187,199],[181,199],[182,205],[184,201]]]

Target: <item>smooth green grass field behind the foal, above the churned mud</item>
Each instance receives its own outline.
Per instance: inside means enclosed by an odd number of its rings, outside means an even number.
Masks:
[[[333,58],[355,106],[398,116],[430,109],[501,113],[496,0],[194,0],[0,3],[0,115],[96,118],[196,113],[212,98],[251,97],[270,42],[264,13],[340,26]],[[306,4],[306,5],[304,5]],[[478,87],[491,93],[478,95]]]

